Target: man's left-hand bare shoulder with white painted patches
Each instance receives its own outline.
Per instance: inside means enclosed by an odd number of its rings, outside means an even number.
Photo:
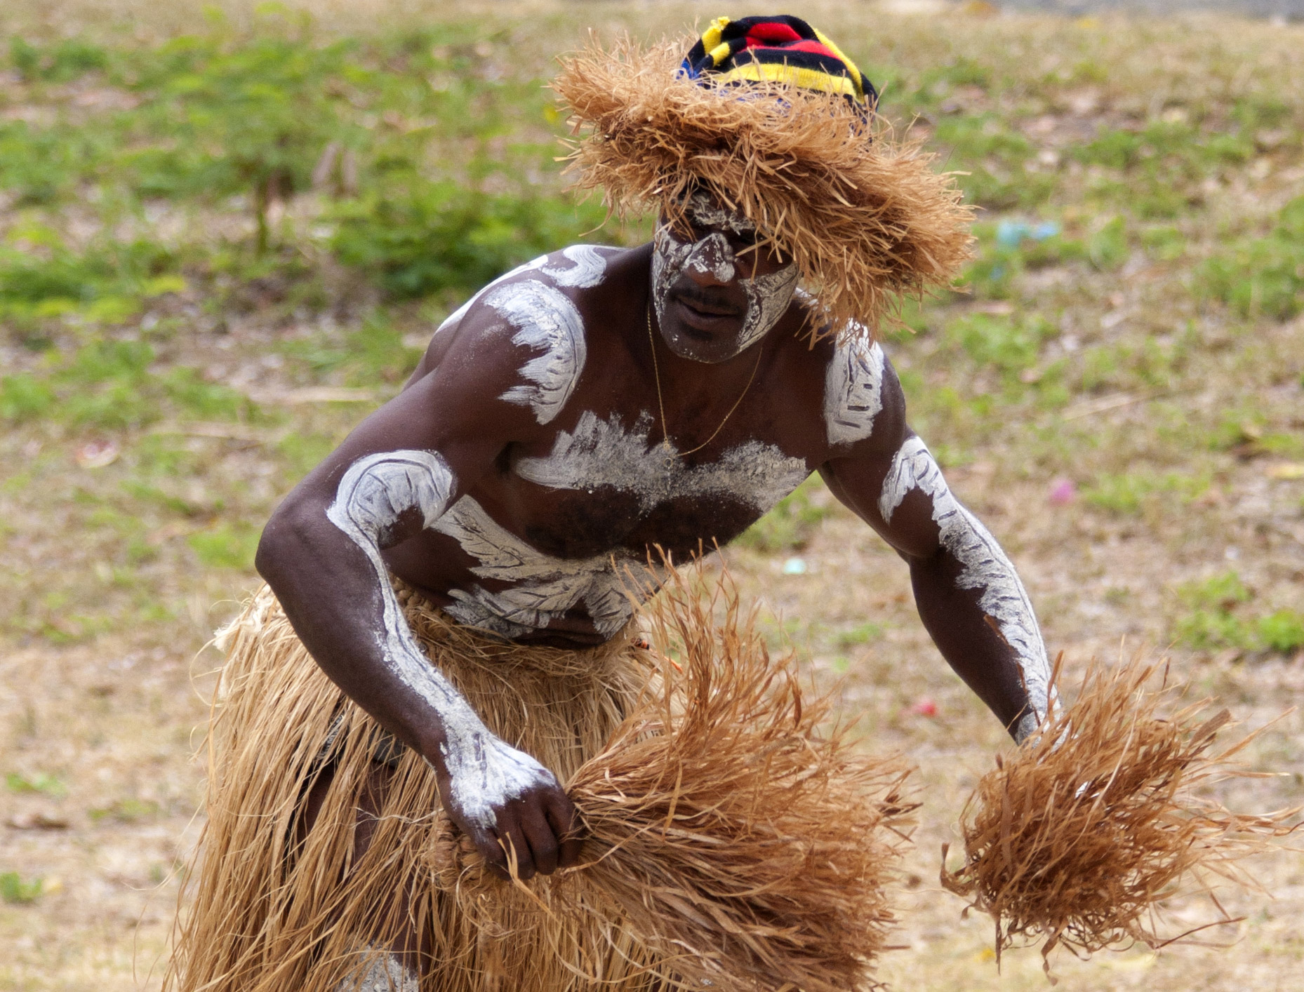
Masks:
[[[548,424],[566,407],[588,357],[579,301],[606,279],[619,249],[571,245],[499,276],[434,332],[411,385],[436,370],[475,374],[493,398]]]

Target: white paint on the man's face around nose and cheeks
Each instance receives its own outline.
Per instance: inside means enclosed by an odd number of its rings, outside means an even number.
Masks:
[[[700,227],[717,227],[750,233],[756,226],[733,211],[712,207],[704,197],[694,197],[689,207],[690,219]],[[720,283],[733,282],[738,272],[738,258],[729,239],[715,231],[699,241],[686,242],[675,237],[668,226],[660,226],[652,239],[652,305],[657,322],[664,326],[666,308],[670,304],[670,288],[685,271],[699,271],[712,275]],[[747,297],[742,328],[729,353],[715,358],[725,361],[764,338],[788,310],[801,278],[797,266],[789,263],[777,271],[751,279],[738,279]],[[692,358],[682,345],[666,340],[672,351],[681,357]]]

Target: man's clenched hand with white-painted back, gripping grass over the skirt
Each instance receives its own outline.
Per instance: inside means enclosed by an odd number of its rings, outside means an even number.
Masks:
[[[576,864],[579,813],[557,777],[502,740],[485,743],[477,768],[450,774],[443,761],[432,763],[449,819],[499,879],[511,877],[511,859],[520,879]]]

